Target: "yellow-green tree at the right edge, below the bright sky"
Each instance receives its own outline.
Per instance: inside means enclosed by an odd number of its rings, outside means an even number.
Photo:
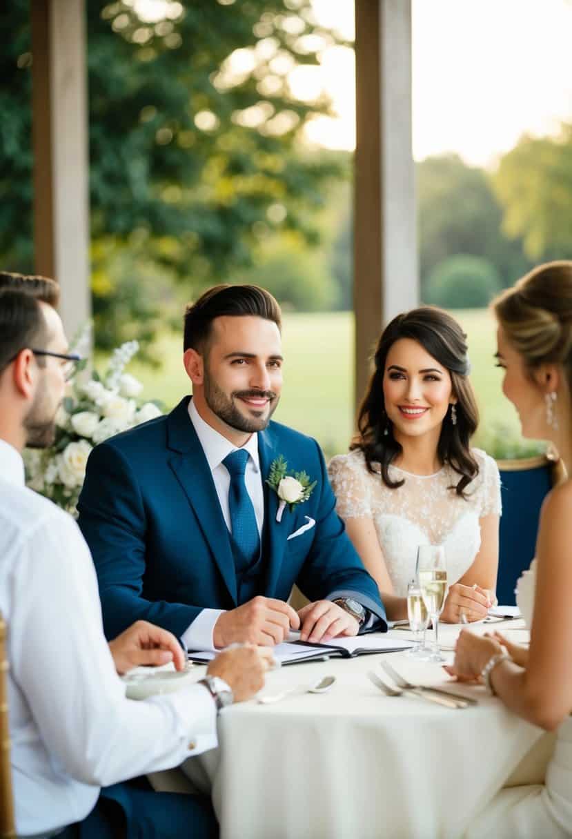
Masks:
[[[572,123],[556,137],[524,136],[504,155],[492,180],[510,237],[528,257],[572,257]]]

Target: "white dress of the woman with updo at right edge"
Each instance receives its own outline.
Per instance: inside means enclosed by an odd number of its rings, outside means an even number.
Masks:
[[[517,605],[532,626],[536,560],[517,583]],[[572,717],[561,722],[544,784],[502,789],[465,839],[560,839],[572,836]]]

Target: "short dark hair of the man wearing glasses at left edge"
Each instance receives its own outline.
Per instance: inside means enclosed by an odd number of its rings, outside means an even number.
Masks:
[[[0,289],[0,375],[21,350],[43,347],[47,326],[39,301],[17,289]]]

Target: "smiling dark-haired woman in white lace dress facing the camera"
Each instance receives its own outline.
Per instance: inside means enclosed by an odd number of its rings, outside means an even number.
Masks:
[[[347,455],[330,461],[337,511],[387,618],[407,617],[419,545],[444,545],[450,583],[442,619],[486,617],[494,598],[501,512],[497,464],[471,449],[478,414],[465,334],[424,306],[383,331]]]

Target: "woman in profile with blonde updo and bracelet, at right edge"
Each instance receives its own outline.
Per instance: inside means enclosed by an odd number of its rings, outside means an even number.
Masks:
[[[493,304],[502,389],[523,435],[550,440],[572,461],[572,262],[548,263]],[[533,610],[527,608],[534,587]],[[543,503],[536,560],[518,584],[530,647],[500,634],[460,633],[452,675],[483,678],[514,713],[556,731],[545,783],[503,789],[471,825],[470,839],[555,839],[572,835],[572,481]],[[532,592],[530,592],[532,593]],[[530,622],[533,611],[533,620]],[[528,614],[527,614],[528,613]]]

